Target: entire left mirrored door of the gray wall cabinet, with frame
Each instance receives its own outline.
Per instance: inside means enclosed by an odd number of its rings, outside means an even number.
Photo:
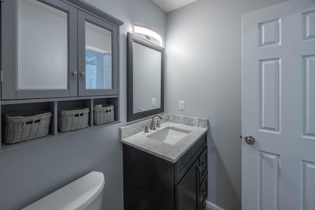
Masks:
[[[75,7],[61,0],[3,1],[1,33],[2,100],[77,96]]]

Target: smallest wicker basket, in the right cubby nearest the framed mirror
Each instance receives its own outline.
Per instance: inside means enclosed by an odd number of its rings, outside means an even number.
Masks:
[[[111,104],[102,104],[102,107],[94,107],[93,111],[95,125],[114,121],[114,106]]]

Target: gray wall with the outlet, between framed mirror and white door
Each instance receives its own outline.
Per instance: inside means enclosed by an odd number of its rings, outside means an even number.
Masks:
[[[209,119],[208,201],[226,210],[241,209],[241,15],[284,1],[197,0],[167,13],[166,113]]]

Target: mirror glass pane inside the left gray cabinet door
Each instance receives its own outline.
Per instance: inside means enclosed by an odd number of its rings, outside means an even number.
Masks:
[[[37,0],[17,3],[18,89],[67,89],[67,13]]]

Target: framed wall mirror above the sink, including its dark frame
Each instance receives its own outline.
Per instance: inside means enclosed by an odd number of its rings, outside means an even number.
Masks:
[[[164,112],[164,48],[127,34],[127,121]]]

